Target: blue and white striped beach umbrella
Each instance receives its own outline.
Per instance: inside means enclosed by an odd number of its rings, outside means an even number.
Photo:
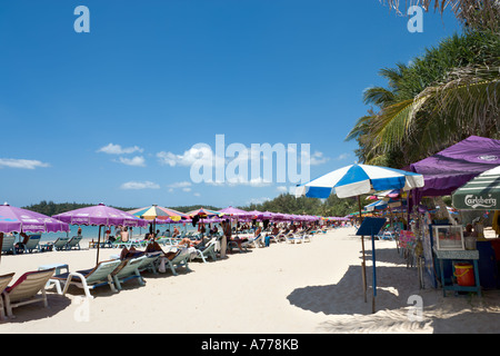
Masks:
[[[324,199],[336,194],[339,198],[348,198],[373,190],[410,190],[420,187],[423,187],[423,176],[419,174],[388,167],[351,165],[298,186],[296,196]]]

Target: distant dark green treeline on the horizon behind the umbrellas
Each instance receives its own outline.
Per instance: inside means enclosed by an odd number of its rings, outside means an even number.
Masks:
[[[370,202],[371,202],[370,200],[366,199],[366,196],[361,197],[361,206],[366,206]],[[69,210],[80,209],[94,205],[96,204],[53,202],[42,200],[38,204],[33,204],[23,208],[40,214],[44,214],[47,216],[53,216]],[[113,208],[128,211],[140,207],[113,207]],[[210,205],[177,206],[169,208],[181,212],[188,212],[199,208],[206,208],[210,210],[221,209],[220,207],[214,207]],[[299,214],[299,215],[346,216],[350,212],[358,211],[358,200],[357,198],[339,199],[334,195],[331,195],[328,199],[317,199],[307,197],[296,198],[293,195],[282,194],[276,197],[274,199],[264,201],[262,204],[250,204],[249,206],[240,206],[238,208],[247,211],[259,210],[259,211]]]

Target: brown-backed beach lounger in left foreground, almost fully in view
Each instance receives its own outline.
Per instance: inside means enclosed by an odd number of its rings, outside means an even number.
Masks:
[[[7,316],[13,318],[12,308],[31,303],[43,301],[43,306],[48,308],[46,284],[53,271],[53,268],[28,271],[19,277],[12,286],[7,287],[2,293]],[[41,295],[38,294],[39,291],[41,291]]]

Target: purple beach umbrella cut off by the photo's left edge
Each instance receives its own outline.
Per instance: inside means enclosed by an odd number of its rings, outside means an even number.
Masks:
[[[57,233],[69,231],[69,225],[47,215],[11,207],[0,206],[0,233]]]

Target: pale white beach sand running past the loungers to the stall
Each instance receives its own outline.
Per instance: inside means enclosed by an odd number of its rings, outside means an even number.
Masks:
[[[16,319],[0,322],[9,333],[499,333],[500,290],[483,297],[442,297],[440,289],[419,288],[416,268],[407,268],[393,241],[377,241],[377,313],[371,313],[371,243],[366,240],[368,303],[361,279],[361,241],[352,228],[317,235],[302,245],[232,254],[228,259],[192,261],[179,276],[146,274],[113,294],[94,298],[70,288],[66,296],[48,291],[50,308],[34,304],[16,308]],[[118,254],[101,249],[101,260]],[[96,249],[2,256],[0,274],[67,263],[70,270],[92,267]],[[422,319],[409,319],[420,296]],[[87,300],[86,303],[82,303]],[[410,310],[411,312],[411,310]],[[410,314],[410,316],[416,314]]]

